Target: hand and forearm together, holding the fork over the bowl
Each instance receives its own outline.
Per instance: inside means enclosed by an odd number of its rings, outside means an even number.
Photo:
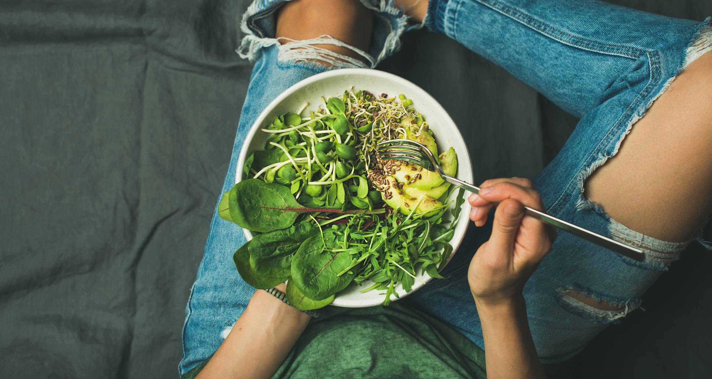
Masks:
[[[490,239],[472,258],[468,281],[482,325],[487,378],[545,378],[522,289],[551,249],[556,230],[524,215],[524,205],[544,210],[527,179],[493,179],[481,188],[468,199],[475,207],[471,220],[484,225],[490,208],[497,210]]]

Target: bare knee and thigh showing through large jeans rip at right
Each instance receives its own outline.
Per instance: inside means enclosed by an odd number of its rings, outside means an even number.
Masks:
[[[614,220],[666,241],[690,240],[712,213],[712,53],[693,61],[585,182]]]

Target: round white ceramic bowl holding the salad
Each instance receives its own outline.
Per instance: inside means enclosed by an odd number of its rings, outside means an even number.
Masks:
[[[464,139],[450,115],[439,102],[421,87],[397,75],[365,68],[344,68],[320,73],[296,83],[282,92],[263,110],[252,125],[242,146],[239,161],[237,162],[236,182],[245,179],[242,168],[247,157],[253,151],[264,149],[268,134],[260,131],[262,127],[270,124],[279,114],[299,110],[304,105],[304,102],[309,102],[305,112],[315,110],[320,105],[321,96],[325,98],[340,96],[344,90],[352,86],[356,90],[368,90],[375,94],[406,95],[407,98],[413,101],[413,107],[423,114],[425,120],[431,126],[439,150],[448,149],[450,146],[455,148],[458,162],[457,177],[470,183],[473,181],[470,155]],[[467,202],[462,205],[462,212],[455,228],[454,236],[450,240],[450,244],[453,247],[453,255],[467,230],[470,208]],[[449,215],[449,213],[447,214]],[[248,240],[253,237],[249,230],[245,230],[245,235]],[[452,258],[452,255],[450,257]],[[400,298],[417,291],[417,289],[423,287],[423,283],[427,283],[432,279],[426,273],[418,275],[417,278],[422,282],[416,280],[410,292],[405,292],[401,285],[398,284],[396,292]],[[370,280],[362,282],[362,286],[358,286],[355,283],[350,284],[349,287],[336,294],[332,305],[362,307],[381,304],[385,299],[384,294],[382,294],[383,291],[371,290],[363,294],[359,292],[360,289],[370,287],[372,284],[373,282]]]

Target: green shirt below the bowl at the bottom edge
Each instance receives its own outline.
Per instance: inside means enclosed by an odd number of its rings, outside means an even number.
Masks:
[[[485,353],[446,324],[407,306],[328,307],[273,379],[486,378]],[[185,373],[192,379],[209,358]]]

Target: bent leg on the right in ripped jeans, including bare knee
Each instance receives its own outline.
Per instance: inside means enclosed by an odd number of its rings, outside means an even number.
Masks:
[[[690,90],[689,85],[680,84],[684,83],[683,80],[679,81],[680,85],[675,85],[677,80],[672,78],[687,65],[688,72],[678,79],[685,75],[693,78],[689,74],[695,65],[703,64],[700,60],[693,65],[687,57],[698,56],[696,52],[712,46],[703,38],[710,33],[709,21],[702,24],[681,21],[593,1],[559,4],[432,0],[427,17],[431,28],[446,33],[502,65],[566,110],[583,115],[557,158],[535,178],[535,186],[543,194],[548,213],[646,250],[646,261],[634,262],[567,233],[560,233],[552,252],[525,287],[525,297],[540,357],[545,363],[563,361],[579,351],[610,322],[637,308],[642,293],[676,259],[689,242],[689,237],[698,230],[701,220],[709,215],[710,209],[705,203],[709,197],[703,199],[690,195],[699,191],[702,191],[702,196],[709,193],[710,181],[704,175],[710,171],[708,155],[695,146],[685,147],[688,153],[685,156],[686,166],[670,164],[667,170],[667,174],[678,175],[677,183],[686,183],[687,186],[692,182],[686,188],[690,197],[680,200],[697,208],[686,213],[689,221],[677,223],[676,228],[669,227],[672,213],[668,213],[666,220],[654,224],[658,229],[640,223],[630,228],[616,219],[626,211],[620,204],[629,205],[637,198],[644,198],[648,208],[632,213],[632,219],[645,215],[645,209],[660,211],[658,208],[670,207],[668,203],[649,201],[644,193],[619,191],[617,183],[620,181],[629,181],[626,184],[632,184],[634,188],[649,188],[644,183],[644,175],[637,181],[631,181],[629,176],[621,178],[621,171],[613,171],[604,176],[604,185],[597,187],[599,191],[591,190],[590,198],[584,196],[584,186],[590,174],[599,167],[605,167],[602,165],[619,153],[619,149],[624,151],[627,146],[637,145],[629,154],[634,156],[632,159],[620,159],[623,164],[619,166],[627,169],[625,172],[637,170],[642,164],[634,150],[643,152],[646,146],[632,140],[634,142],[622,147],[621,142],[631,130],[646,134],[648,128],[639,127],[645,125],[641,124],[645,117],[640,117],[646,111],[649,121],[657,120],[656,123],[670,125],[669,129],[659,129],[659,133],[668,132],[678,146],[689,144],[689,139],[684,136],[673,138],[676,130],[674,123],[653,117],[656,113],[666,113],[661,110],[662,106],[655,105],[660,112],[648,110],[656,99],[656,104],[664,104],[661,99],[674,93],[658,99],[670,82],[674,85],[671,86],[674,91],[684,92],[684,95],[677,105],[669,107],[679,107],[681,112],[686,110],[689,114],[695,114],[693,124],[696,127],[689,129],[688,136],[696,135],[701,139],[701,135],[708,135],[703,132],[704,110],[701,107],[693,110],[689,106],[694,102],[684,101],[693,98],[698,100],[697,104],[704,105],[700,100],[705,97],[700,92],[708,87],[700,86],[700,90],[695,92]],[[700,59],[707,58],[703,55]],[[690,80],[701,81],[698,78]],[[687,87],[688,90],[676,87]],[[686,107],[682,108],[681,104]],[[677,118],[687,123],[692,121],[679,115]],[[709,124],[706,130],[710,130]],[[638,138],[646,139],[648,143],[659,141],[655,137]],[[699,143],[708,146],[708,141]],[[661,145],[665,146],[671,145]],[[658,152],[661,151],[664,149]],[[652,154],[648,156],[649,159],[653,157]],[[681,156],[675,158],[682,160]],[[647,163],[654,166],[654,162]],[[705,168],[704,174],[697,175],[693,181],[689,176],[679,175],[697,173],[695,170]],[[663,176],[665,173],[656,174]],[[605,197],[607,195],[608,198]],[[666,195],[672,196],[671,193]],[[600,197],[601,203],[595,202],[599,201],[596,196]],[[604,213],[609,208],[606,202],[610,198],[619,200],[618,203],[611,203],[611,209],[616,214],[613,218]],[[657,201],[663,199],[659,196]],[[650,220],[654,218],[646,218],[646,221]],[[675,229],[675,233],[679,234],[659,233],[662,229]],[[468,252],[463,250],[461,247],[456,258],[467,255]],[[451,279],[429,284],[405,301],[450,322],[482,346],[481,329],[474,315],[476,309],[469,297],[466,269],[451,267]]]

